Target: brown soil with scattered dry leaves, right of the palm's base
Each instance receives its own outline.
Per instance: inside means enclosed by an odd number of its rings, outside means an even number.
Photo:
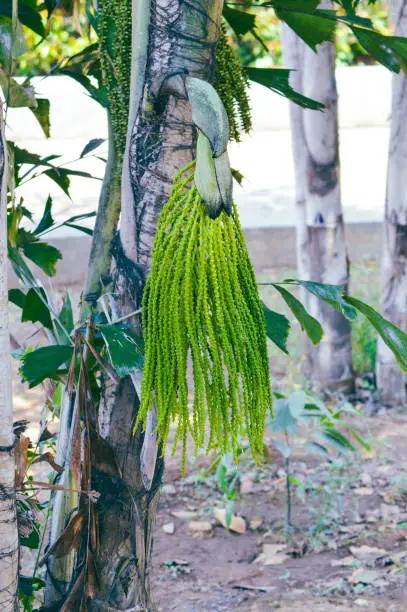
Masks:
[[[376,444],[348,466],[351,478],[346,476],[346,490],[340,492],[343,512],[322,517],[323,507],[311,509],[313,514],[294,496],[295,530],[280,564],[256,562],[264,545],[284,544],[284,479],[277,457],[267,469],[250,462],[243,466],[241,484],[252,488],[239,493],[236,503],[236,514],[248,525],[244,534],[214,520],[222,494],[210,478],[209,483],[196,482],[191,478],[196,472],[191,472],[180,479],[179,461],[169,459],[153,552],[153,593],[159,610],[407,610],[407,416],[387,412],[366,420]],[[303,473],[310,482],[324,481],[326,464],[316,464],[301,451],[294,457],[293,473]],[[198,463],[201,471],[208,464]],[[335,494],[339,492],[334,489],[330,495]],[[195,512],[194,520],[211,522],[212,530],[191,531],[189,517],[174,516],[177,511]],[[318,511],[324,524],[316,537],[311,534]],[[172,535],[163,531],[168,523],[174,524]],[[373,552],[362,549],[368,552],[354,556],[351,547],[357,552],[362,546]],[[351,566],[339,565],[348,557],[353,557]]]

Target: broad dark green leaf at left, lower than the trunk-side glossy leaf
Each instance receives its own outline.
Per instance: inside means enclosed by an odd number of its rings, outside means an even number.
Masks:
[[[28,382],[30,389],[39,385],[46,378],[58,380],[61,366],[67,367],[72,359],[72,346],[44,346],[22,357],[20,373],[23,382]]]

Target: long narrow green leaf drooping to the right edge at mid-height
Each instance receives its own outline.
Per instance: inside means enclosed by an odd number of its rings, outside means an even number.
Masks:
[[[345,297],[345,300],[373,325],[383,342],[392,351],[400,368],[403,372],[407,372],[407,335],[365,302],[353,297]]]

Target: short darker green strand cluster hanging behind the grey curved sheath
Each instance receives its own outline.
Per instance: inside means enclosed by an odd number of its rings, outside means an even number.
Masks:
[[[213,86],[229,118],[230,138],[239,142],[241,132],[248,133],[252,129],[248,96],[249,79],[238,55],[228,43],[224,26],[221,28],[216,50]]]

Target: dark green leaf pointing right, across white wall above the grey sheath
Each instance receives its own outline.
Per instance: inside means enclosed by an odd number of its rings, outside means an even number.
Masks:
[[[295,91],[290,85],[290,72],[292,70],[285,68],[245,68],[247,75],[251,81],[260,83],[264,87],[268,87],[271,91],[288,98],[291,102],[309,108],[311,110],[323,110],[324,104],[307,98]]]

